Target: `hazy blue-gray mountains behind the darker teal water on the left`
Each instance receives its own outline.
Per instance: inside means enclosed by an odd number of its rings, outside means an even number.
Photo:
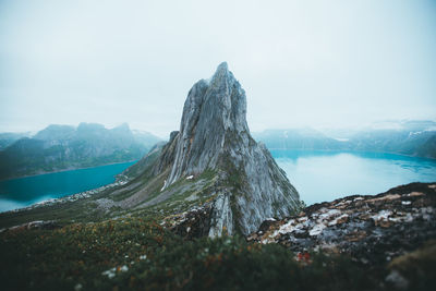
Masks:
[[[97,123],[77,128],[52,124],[34,136],[0,134],[0,179],[140,159],[161,140],[131,131],[126,123],[106,129]]]

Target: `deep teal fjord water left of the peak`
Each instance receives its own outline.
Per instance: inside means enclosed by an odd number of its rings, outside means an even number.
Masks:
[[[26,207],[41,201],[110,184],[114,182],[116,174],[133,163],[134,161],[113,163],[0,181],[0,211]]]

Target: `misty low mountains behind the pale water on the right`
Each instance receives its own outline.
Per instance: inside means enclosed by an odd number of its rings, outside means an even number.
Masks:
[[[359,131],[266,130],[253,136],[269,149],[360,150],[436,158],[436,122],[387,121]]]

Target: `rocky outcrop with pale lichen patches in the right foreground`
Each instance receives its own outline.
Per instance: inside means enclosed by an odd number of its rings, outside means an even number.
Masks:
[[[378,195],[312,205],[299,215],[267,220],[250,241],[294,252],[323,250],[363,264],[385,264],[436,239],[436,183],[412,183]]]

